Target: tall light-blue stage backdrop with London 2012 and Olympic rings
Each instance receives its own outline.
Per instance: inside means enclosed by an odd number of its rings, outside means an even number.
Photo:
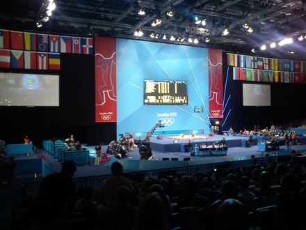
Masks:
[[[116,39],[117,133],[136,137],[161,120],[156,131],[209,133],[208,49]],[[144,105],[145,80],[186,83],[186,105]],[[202,107],[203,112],[195,112]]]

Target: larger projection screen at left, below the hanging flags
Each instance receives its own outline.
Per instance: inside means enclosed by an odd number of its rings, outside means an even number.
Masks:
[[[0,106],[58,107],[59,75],[0,72]]]

